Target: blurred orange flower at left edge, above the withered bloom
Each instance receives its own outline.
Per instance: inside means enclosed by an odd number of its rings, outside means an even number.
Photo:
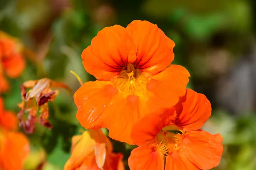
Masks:
[[[19,40],[0,31],[0,93],[9,89],[9,82],[4,74],[17,78],[23,72],[26,64],[22,50]]]

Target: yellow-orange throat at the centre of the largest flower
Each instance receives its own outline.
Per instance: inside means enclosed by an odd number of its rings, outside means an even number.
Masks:
[[[123,96],[144,95],[146,84],[148,82],[139,68],[136,68],[133,64],[128,63],[119,74],[112,80],[113,85],[118,89],[119,94]]]

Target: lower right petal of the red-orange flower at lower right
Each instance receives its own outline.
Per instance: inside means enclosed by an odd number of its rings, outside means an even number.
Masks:
[[[183,152],[200,169],[217,167],[223,153],[221,135],[212,135],[206,131],[191,131],[183,138]]]

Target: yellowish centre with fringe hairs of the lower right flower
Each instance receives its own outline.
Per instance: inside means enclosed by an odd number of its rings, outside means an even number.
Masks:
[[[174,126],[164,127],[155,138],[157,150],[164,155],[181,150],[183,132],[176,129]]]

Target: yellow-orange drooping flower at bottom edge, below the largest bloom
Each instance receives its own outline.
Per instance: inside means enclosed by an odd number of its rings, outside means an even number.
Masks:
[[[71,157],[64,170],[124,170],[121,153],[113,153],[101,129],[87,130],[72,138]]]

